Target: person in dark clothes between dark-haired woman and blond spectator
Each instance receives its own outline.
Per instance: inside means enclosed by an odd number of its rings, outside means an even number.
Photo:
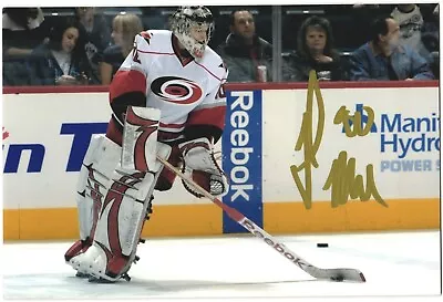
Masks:
[[[99,63],[103,60],[103,51],[111,45],[109,22],[91,7],[75,8],[75,17],[86,31],[84,51],[93,71],[92,81],[99,84]]]

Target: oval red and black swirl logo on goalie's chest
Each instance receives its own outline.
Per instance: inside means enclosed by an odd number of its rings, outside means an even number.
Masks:
[[[203,95],[202,88],[195,82],[177,76],[155,79],[151,91],[163,101],[175,104],[192,104]]]

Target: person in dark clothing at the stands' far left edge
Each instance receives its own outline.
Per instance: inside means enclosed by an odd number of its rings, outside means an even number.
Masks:
[[[3,85],[29,85],[27,60],[32,50],[47,39],[48,22],[40,8],[4,8]]]

